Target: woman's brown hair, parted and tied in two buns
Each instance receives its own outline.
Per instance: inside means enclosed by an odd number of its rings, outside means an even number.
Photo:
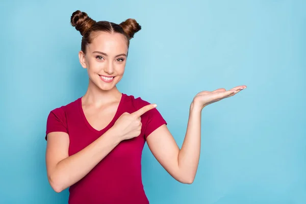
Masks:
[[[72,13],[70,23],[77,31],[80,31],[82,38],[81,50],[86,53],[86,45],[92,42],[94,34],[97,32],[120,33],[126,37],[127,47],[134,34],[141,30],[141,26],[135,19],[129,18],[120,24],[109,21],[96,22],[87,13],[75,11]]]

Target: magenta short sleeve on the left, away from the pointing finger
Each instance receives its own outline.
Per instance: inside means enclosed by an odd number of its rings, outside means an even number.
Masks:
[[[68,133],[66,114],[63,108],[57,108],[51,111],[47,117],[46,135],[51,132],[64,132]]]

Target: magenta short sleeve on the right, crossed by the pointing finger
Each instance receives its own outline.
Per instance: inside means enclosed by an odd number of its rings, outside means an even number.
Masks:
[[[145,100],[142,100],[140,97],[136,98],[137,100],[137,105],[138,105],[138,109],[149,105],[150,103],[148,103]],[[146,112],[145,114],[143,114],[143,116],[146,117],[146,124],[144,127],[144,138],[146,139],[153,131],[155,131],[156,129],[158,129],[158,127],[162,126],[163,124],[167,125],[166,120],[163,118],[163,116],[161,115],[161,113],[157,110],[157,108],[151,109],[148,112]]]

